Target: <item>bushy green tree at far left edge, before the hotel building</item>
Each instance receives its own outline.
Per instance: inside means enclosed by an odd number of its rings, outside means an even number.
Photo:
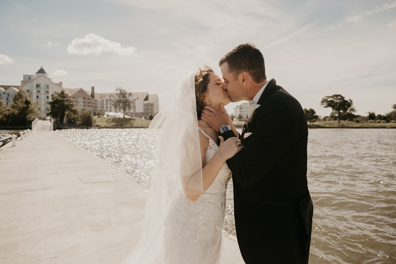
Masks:
[[[39,117],[40,103],[32,100],[26,94],[26,91],[19,89],[18,93],[14,94],[12,104],[3,111],[3,121],[8,125],[24,125],[26,118]]]

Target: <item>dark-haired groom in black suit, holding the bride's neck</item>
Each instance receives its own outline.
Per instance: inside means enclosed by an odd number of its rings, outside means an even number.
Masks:
[[[235,226],[247,264],[307,264],[313,205],[307,186],[308,128],[298,101],[267,81],[264,57],[242,44],[219,61],[232,102],[251,101],[244,150],[227,160],[234,183]],[[202,120],[227,140],[231,119],[205,106]]]

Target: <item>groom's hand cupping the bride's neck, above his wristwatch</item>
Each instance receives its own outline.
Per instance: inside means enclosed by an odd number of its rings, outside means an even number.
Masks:
[[[201,114],[201,119],[217,132],[223,125],[233,127],[231,117],[228,115],[223,104],[220,104],[220,110],[217,110],[213,106],[205,106]]]

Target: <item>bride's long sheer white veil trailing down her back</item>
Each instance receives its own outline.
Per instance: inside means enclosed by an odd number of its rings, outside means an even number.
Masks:
[[[122,264],[164,263],[164,222],[176,191],[201,194],[202,163],[195,97],[195,73],[186,71],[171,103],[148,129],[157,131],[154,168],[145,205],[142,238]]]

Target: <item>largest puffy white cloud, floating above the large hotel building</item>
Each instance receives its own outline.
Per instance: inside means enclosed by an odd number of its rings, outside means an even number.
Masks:
[[[106,40],[94,33],[86,35],[83,39],[72,40],[67,47],[67,52],[85,56],[99,56],[103,52],[112,52],[120,56],[136,55],[134,47],[121,47],[121,44]]]

